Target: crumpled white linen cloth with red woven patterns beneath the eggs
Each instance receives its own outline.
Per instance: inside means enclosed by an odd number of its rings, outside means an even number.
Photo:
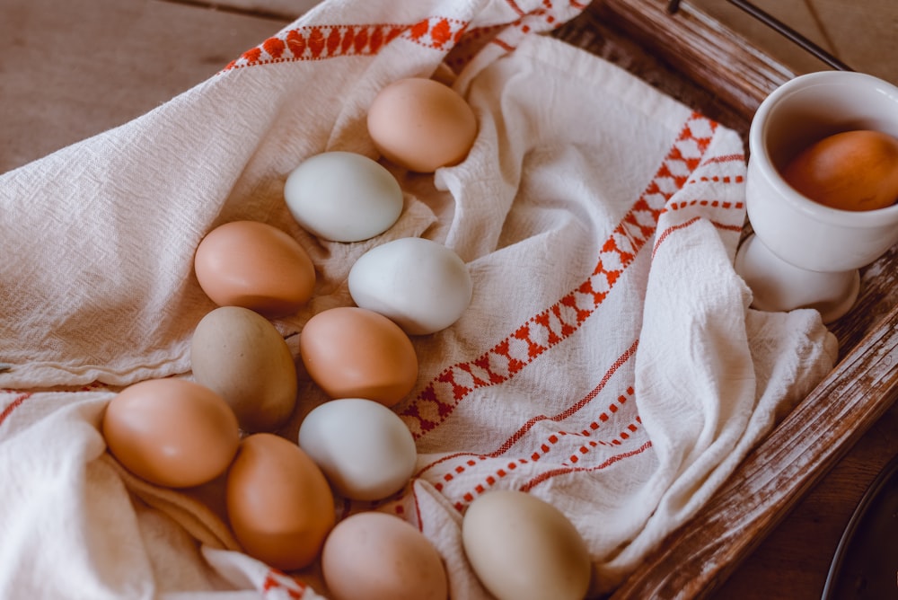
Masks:
[[[833,365],[813,311],[759,313],[732,261],[744,224],[739,137],[602,59],[541,35],[583,6],[540,0],[332,0],[196,88],[0,178],[0,596],[326,596],[315,569],[242,554],[220,490],[137,480],[105,452],[120,386],[189,376],[214,308],[192,273],[215,225],[284,229],[318,271],[285,335],[351,304],[348,269],[424,236],[469,265],[451,328],[414,339],[395,410],[418,472],[376,507],[418,525],[453,598],[488,597],[461,546],[491,489],[559,507],[612,589],[718,488]],[[450,53],[451,50],[451,53]],[[282,188],[305,157],[376,157],[365,109],[395,79],[452,81],[480,131],[461,164],[392,167],[400,221],[326,243]],[[12,260],[11,260],[12,259]],[[294,343],[292,336],[289,340]],[[300,408],[326,399],[300,373]]]

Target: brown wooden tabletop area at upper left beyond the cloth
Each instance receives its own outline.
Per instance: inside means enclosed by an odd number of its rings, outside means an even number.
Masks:
[[[283,24],[159,0],[5,0],[0,172],[153,110]]]

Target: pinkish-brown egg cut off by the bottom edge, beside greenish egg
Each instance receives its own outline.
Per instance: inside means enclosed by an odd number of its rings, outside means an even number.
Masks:
[[[381,512],[340,521],[324,543],[321,572],[333,600],[445,600],[449,594],[433,543],[414,525]]]

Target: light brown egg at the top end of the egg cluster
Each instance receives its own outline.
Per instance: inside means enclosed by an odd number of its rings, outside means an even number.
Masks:
[[[413,172],[461,163],[477,137],[477,117],[462,95],[425,77],[384,87],[368,109],[367,127],[384,158]]]

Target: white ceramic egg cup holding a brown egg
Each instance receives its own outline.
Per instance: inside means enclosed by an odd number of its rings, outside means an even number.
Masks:
[[[898,137],[898,87],[872,75],[800,75],[762,101],[749,131],[745,184],[753,227],[735,269],[762,311],[814,308],[829,323],[858,298],[858,269],[898,243],[898,205],[867,211],[807,199],[779,174],[800,150],[841,131]]]

